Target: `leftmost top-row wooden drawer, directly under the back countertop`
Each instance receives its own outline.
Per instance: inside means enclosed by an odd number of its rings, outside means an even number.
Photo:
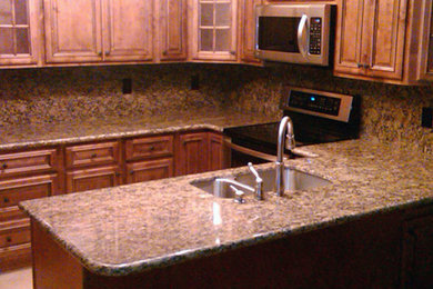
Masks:
[[[57,170],[56,149],[0,155],[0,177]]]

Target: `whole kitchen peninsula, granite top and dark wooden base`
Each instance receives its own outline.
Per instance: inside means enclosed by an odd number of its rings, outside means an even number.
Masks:
[[[286,166],[332,185],[283,198],[190,185],[226,170],[22,202],[37,288],[431,283],[432,157],[369,140],[308,150]]]

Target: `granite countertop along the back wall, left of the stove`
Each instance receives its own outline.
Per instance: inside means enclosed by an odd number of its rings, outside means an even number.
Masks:
[[[41,146],[107,140],[193,129],[222,131],[224,128],[279,121],[280,116],[266,117],[220,109],[191,109],[140,118],[107,117],[85,122],[19,123],[0,126],[0,150],[29,149]]]

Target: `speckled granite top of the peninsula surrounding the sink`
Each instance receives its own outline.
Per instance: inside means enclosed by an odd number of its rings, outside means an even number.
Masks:
[[[286,166],[332,185],[246,203],[190,185],[216,171],[26,201],[21,207],[90,270],[125,275],[433,200],[433,159],[353,140],[306,147],[318,158]],[[259,166],[259,171],[273,168]]]

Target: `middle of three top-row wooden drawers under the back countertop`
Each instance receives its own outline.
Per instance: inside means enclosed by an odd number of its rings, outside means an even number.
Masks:
[[[119,161],[119,143],[81,144],[66,149],[67,168],[111,165]]]

